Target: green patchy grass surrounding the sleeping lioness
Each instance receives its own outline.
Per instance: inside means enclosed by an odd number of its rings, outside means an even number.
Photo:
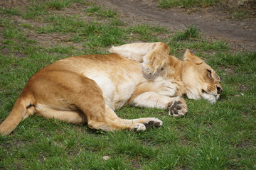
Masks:
[[[0,136],[0,169],[256,169],[256,52],[206,40],[196,26],[172,33],[149,24],[129,26],[118,13],[84,1],[36,2],[1,8],[0,121],[38,69],[74,55],[106,54],[111,45],[127,42],[161,40],[179,59],[186,48],[194,50],[218,72],[224,91],[213,105],[186,98],[186,118],[155,108],[116,111],[121,118],[164,121],[145,132],[100,132],[31,116]],[[65,14],[73,3],[81,15]],[[14,15],[26,22],[16,23]]]

